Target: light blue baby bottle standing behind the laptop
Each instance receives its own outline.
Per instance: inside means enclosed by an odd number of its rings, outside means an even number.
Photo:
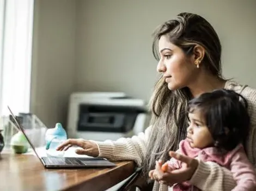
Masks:
[[[55,128],[48,129],[45,134],[46,155],[54,157],[63,157],[64,151],[57,151],[58,145],[66,140],[66,131],[62,124],[56,123]]]

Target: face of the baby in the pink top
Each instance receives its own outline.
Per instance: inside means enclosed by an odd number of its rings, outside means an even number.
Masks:
[[[188,114],[188,118],[190,119],[190,126],[187,128],[187,139],[191,147],[203,149],[213,145],[214,139],[200,111],[194,110]]]

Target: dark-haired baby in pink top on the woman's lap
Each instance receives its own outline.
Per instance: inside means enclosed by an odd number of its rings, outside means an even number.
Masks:
[[[229,169],[237,183],[233,190],[256,190],[255,171],[243,149],[249,130],[245,98],[224,89],[204,93],[189,102],[188,118],[187,138],[176,152]],[[182,162],[171,158],[161,169],[168,172],[181,167]],[[155,179],[154,173],[150,171],[151,179]],[[176,183],[172,189],[199,190],[189,181]]]

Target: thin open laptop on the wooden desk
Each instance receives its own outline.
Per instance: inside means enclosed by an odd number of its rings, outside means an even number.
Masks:
[[[17,127],[21,130],[21,132],[25,135],[29,145],[34,150],[36,157],[39,158],[42,165],[45,168],[92,168],[92,167],[114,167],[115,164],[106,160],[105,158],[100,157],[40,157],[38,152],[36,151],[33,143],[26,135],[25,130],[23,129],[22,125],[14,116],[13,112],[8,109],[13,117]]]

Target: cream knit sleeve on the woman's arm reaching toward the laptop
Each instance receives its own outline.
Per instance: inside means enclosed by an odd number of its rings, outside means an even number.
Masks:
[[[145,130],[145,133],[141,132],[138,136],[131,138],[119,138],[117,141],[92,142],[97,144],[100,153],[99,157],[108,158],[113,161],[133,160],[138,166],[141,166],[150,130],[151,126]]]

